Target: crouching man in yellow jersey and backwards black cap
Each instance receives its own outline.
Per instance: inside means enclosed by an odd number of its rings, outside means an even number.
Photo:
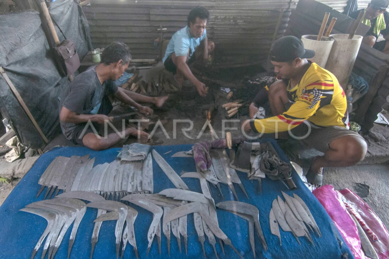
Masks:
[[[347,167],[363,160],[365,140],[349,130],[345,93],[336,77],[307,60],[315,52],[305,50],[301,40],[286,36],[270,50],[274,71],[282,80],[272,84],[268,98],[274,117],[248,120],[245,131],[258,133],[300,132],[302,141],[323,152],[306,174],[308,182],[322,185],[324,167]],[[302,132],[302,133],[301,133]]]

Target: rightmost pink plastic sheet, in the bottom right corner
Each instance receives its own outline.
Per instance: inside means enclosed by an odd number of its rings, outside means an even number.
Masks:
[[[365,230],[380,259],[389,259],[389,234],[371,207],[349,189],[339,191],[346,199],[346,207]]]

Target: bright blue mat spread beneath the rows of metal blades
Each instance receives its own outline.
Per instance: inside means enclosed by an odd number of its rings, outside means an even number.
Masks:
[[[262,140],[265,141],[265,140]],[[268,139],[266,140],[268,141]],[[288,161],[278,144],[270,140],[284,161]],[[191,145],[177,146],[157,146],[155,150],[166,159],[173,169],[181,174],[182,172],[195,172],[195,161],[193,158],[171,157],[179,151],[188,151]],[[95,157],[95,165],[113,161],[118,155],[120,149],[108,149],[106,151],[94,152],[85,147],[62,147],[54,148],[52,151],[41,155],[36,161],[33,168],[23,177],[18,186],[11,192],[8,198],[0,207],[0,258],[1,259],[21,259],[30,258],[31,252],[38,241],[39,237],[46,228],[46,220],[27,212],[19,211],[26,205],[40,201],[43,199],[45,191],[35,198],[36,193],[40,189],[38,180],[45,169],[53,161],[56,156],[71,156],[71,155],[87,155]],[[172,151],[168,154],[165,154]],[[167,176],[159,168],[158,164],[153,161],[154,169],[154,192],[157,193],[167,188],[175,188]],[[285,258],[315,258],[329,259],[342,258],[342,255],[347,258],[354,258],[350,249],[347,247],[341,238],[335,225],[330,217],[320,205],[314,195],[303,185],[296,172],[293,172],[293,180],[296,183],[297,189],[287,190],[281,182],[274,182],[269,179],[263,180],[263,194],[257,193],[257,181],[251,182],[247,180],[246,173],[238,172],[250,199],[244,195],[243,191],[236,185],[235,190],[238,193],[239,199],[242,202],[247,202],[258,207],[260,212],[260,224],[265,235],[265,239],[269,250],[263,251],[262,245],[258,236],[255,234],[255,250],[257,258],[268,259],[285,259]],[[197,192],[201,192],[198,179],[183,178],[188,187]],[[221,186],[226,200],[233,200],[233,195],[226,185]],[[289,195],[292,193],[298,194],[310,208],[318,226],[321,230],[322,237],[318,238],[312,234],[315,246],[309,243],[305,238],[300,238],[301,245],[298,244],[293,235],[289,232],[283,232],[280,228],[282,246],[280,246],[278,237],[270,233],[269,226],[269,211],[272,206],[272,201],[277,198],[277,195],[282,196],[281,191],[285,191]],[[219,192],[211,185],[212,196],[215,203],[223,201]],[[146,258],[147,249],[147,231],[152,221],[152,214],[141,207],[131,205],[138,210],[139,215],[135,221],[135,234],[139,249],[140,258]],[[73,249],[70,258],[89,259],[90,257],[90,237],[93,230],[93,220],[96,218],[97,209],[88,208],[87,212],[78,228]],[[240,251],[243,258],[253,258],[253,253],[248,240],[248,223],[224,210],[217,209],[217,217],[220,228],[230,238],[234,246]],[[96,244],[94,251],[95,259],[108,259],[116,257],[115,249],[115,222],[104,222],[101,227],[99,241]],[[70,238],[71,227],[65,235],[65,238],[58,249],[55,258],[67,258],[68,243]],[[177,240],[171,235],[171,251],[170,257],[167,253],[166,237],[162,233],[162,254],[158,253],[158,244],[156,238],[151,246],[148,258],[202,258],[202,250],[200,242],[197,240],[197,234],[193,224],[193,215],[188,215],[188,255],[185,255],[184,242],[181,237],[182,252],[179,253]],[[42,247],[38,251],[35,258],[40,258]],[[205,249],[207,258],[215,258],[212,246],[206,241]],[[222,254],[219,243],[216,243],[216,250],[219,258],[238,258],[232,249],[225,245],[225,255]],[[47,257],[47,256],[46,256]],[[127,244],[124,258],[135,258],[132,247]]]

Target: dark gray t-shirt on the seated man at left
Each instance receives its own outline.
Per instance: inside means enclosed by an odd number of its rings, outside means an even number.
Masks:
[[[78,114],[97,114],[103,97],[118,91],[118,86],[112,80],[100,83],[96,66],[88,68],[79,74],[68,90],[60,98],[59,110],[62,106]],[[66,138],[73,137],[77,124],[60,121],[62,133]]]

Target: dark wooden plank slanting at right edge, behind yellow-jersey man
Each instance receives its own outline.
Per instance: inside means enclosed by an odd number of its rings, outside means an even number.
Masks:
[[[370,84],[369,91],[366,93],[365,97],[362,100],[362,104],[358,107],[354,120],[361,125],[364,120],[366,111],[368,110],[371,101],[374,99],[378,90],[382,86],[382,83],[387,78],[389,72],[388,65],[382,65],[375,75],[373,82]]]

